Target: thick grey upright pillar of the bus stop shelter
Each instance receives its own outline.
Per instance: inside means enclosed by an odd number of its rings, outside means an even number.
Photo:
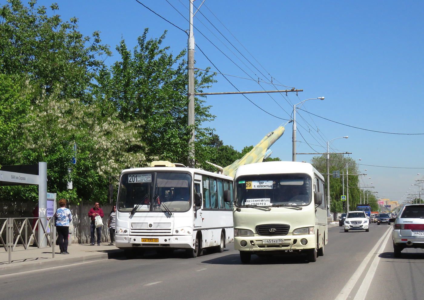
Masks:
[[[47,227],[47,162],[38,163],[38,216],[40,223]],[[38,242],[40,247],[47,247],[47,239],[43,239],[44,231],[38,226]]]

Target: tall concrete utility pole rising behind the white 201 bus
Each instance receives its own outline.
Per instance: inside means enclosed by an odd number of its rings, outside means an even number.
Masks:
[[[188,142],[189,153],[187,157],[187,166],[194,168],[194,140],[195,140],[195,119],[194,119],[194,36],[193,36],[193,0],[190,0],[190,32],[187,41],[188,58],[187,58],[187,72],[188,72],[188,96],[189,104],[187,107],[187,125],[191,128],[190,139]]]

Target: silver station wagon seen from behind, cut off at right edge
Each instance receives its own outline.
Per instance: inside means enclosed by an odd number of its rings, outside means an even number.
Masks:
[[[393,222],[395,257],[400,257],[404,248],[424,248],[424,204],[405,204]]]

